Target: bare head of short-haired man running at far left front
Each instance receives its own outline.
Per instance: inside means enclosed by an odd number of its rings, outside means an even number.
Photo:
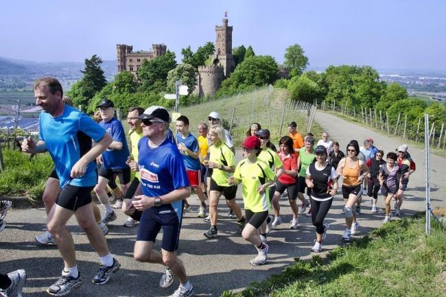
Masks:
[[[62,85],[56,78],[39,78],[33,85],[36,105],[44,112],[54,115],[61,107],[63,109],[62,97],[64,92]]]

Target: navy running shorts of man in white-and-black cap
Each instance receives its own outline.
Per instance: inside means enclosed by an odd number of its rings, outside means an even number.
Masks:
[[[137,241],[155,242],[156,235],[163,228],[161,248],[167,250],[167,252],[175,252],[178,250],[183,207],[178,211],[180,211],[179,215],[175,212],[172,204],[152,207],[151,209],[143,211],[141,220],[139,221]]]

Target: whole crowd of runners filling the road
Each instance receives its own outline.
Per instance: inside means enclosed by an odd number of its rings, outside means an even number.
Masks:
[[[359,227],[356,218],[361,213],[362,196],[371,198],[372,212],[376,213],[381,188],[386,206],[384,222],[388,222],[392,199],[395,215],[401,214],[403,192],[415,170],[407,145],[388,152],[385,161],[384,152],[373,146],[373,139],[366,139],[362,147],[350,141],[344,154],[327,132],[315,145],[314,135],[298,133],[294,121],[288,125],[289,135],[279,140],[279,147],[270,141],[270,131],[253,123],[241,145],[244,158],[236,164],[231,134],[222,126],[218,112],[210,112],[208,123],[200,123],[197,138],[189,132],[185,115],[175,120],[174,134],[169,129],[169,112],[161,106],[128,110],[129,150],[126,132],[109,99],[100,102],[97,123],[71,106],[55,78],[38,79],[33,87],[36,104],[43,109],[40,131],[37,142],[31,138],[23,141],[22,150],[30,154],[49,152],[55,165],[43,195],[47,231],[36,237],[40,243],[56,243],[64,261],[62,276],[46,290],[51,296],[64,296],[82,284],[73,238],[66,226],[73,215],[99,257],[99,270],[92,279],[95,285],[107,283],[120,268],[105,235],[107,225],[117,219],[114,209],[121,209],[128,216],[124,226],[139,222],[134,259],[164,265],[159,285],[169,287],[175,276],[180,285],[172,296],[189,297],[194,294],[193,285],[176,250],[183,213],[191,209],[187,202],[191,189],[200,200],[198,217],[210,224],[204,238],[218,237],[218,204],[223,195],[229,215],[237,220],[237,233],[257,252],[250,264],[262,265],[268,261],[267,234],[282,224],[281,197],[287,197],[292,210],[291,229],[298,228],[298,213],[309,207],[307,215],[316,228],[312,251],[321,252],[329,229],[324,219],[338,193],[339,179],[347,226],[342,239],[349,241]],[[242,187],[244,212],[235,199],[238,185]],[[108,187],[114,194],[108,193]],[[104,206],[102,216],[92,202],[91,191]],[[113,196],[117,200],[112,206]],[[10,202],[1,202],[0,230],[10,206]],[[154,241],[161,228],[159,252]],[[25,280],[23,270],[0,274],[1,296],[21,296]]]

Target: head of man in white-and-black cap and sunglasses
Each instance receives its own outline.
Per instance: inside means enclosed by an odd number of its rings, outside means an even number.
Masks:
[[[170,116],[163,106],[150,106],[138,117],[141,119],[144,136],[159,137],[164,135],[169,126]]]

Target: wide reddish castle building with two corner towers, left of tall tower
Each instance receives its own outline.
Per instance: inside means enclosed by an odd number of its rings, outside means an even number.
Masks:
[[[137,75],[143,60],[152,60],[164,55],[166,49],[165,45],[152,45],[152,51],[133,51],[132,45],[116,45],[117,71],[130,71]]]

